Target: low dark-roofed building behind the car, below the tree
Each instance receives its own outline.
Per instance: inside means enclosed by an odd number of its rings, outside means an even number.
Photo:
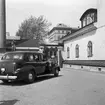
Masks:
[[[6,51],[12,50],[39,50],[39,42],[37,39],[20,39],[19,36],[10,36],[6,33]]]

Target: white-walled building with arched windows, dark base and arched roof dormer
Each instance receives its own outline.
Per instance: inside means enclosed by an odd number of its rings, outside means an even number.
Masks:
[[[97,1],[97,9],[89,8],[80,17],[81,28],[64,36],[64,64],[105,66],[105,1]]]

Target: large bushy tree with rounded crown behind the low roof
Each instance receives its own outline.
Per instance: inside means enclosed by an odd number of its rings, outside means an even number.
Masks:
[[[16,36],[20,36],[21,39],[37,38],[41,41],[47,35],[50,25],[51,23],[44,19],[43,16],[38,18],[31,16],[21,23]]]

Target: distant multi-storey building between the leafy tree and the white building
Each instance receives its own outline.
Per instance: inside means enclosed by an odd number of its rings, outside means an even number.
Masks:
[[[67,35],[67,33],[72,33],[72,32],[75,32],[76,30],[78,30],[78,28],[71,28],[71,27],[68,27],[68,26],[60,23],[56,27],[53,27],[52,30],[50,30],[50,32],[48,34],[49,42],[58,43],[58,41],[63,36]]]

